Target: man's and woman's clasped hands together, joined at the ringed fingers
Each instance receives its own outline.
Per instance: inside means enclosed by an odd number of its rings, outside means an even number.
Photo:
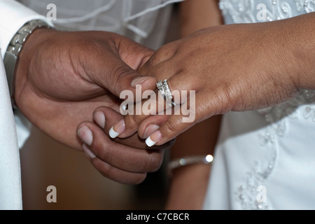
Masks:
[[[156,52],[118,34],[38,30],[21,52],[15,100],[43,132],[83,147],[104,176],[140,183],[160,167],[172,139],[195,123],[273,106],[307,87],[300,74],[312,70],[298,57],[296,42],[283,35],[295,22],[212,27]],[[169,108],[160,110],[159,97],[148,97],[134,106],[142,113],[120,115],[120,92],[135,95],[137,85],[141,94],[155,91],[165,79],[180,93],[171,114],[161,113]],[[155,106],[143,106],[148,103]],[[183,123],[190,116],[183,106],[193,113],[190,122]]]

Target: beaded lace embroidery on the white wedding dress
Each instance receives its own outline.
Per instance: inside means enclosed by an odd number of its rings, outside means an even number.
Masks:
[[[311,13],[315,10],[313,0],[266,0],[265,20],[258,20],[261,3],[255,0],[221,0],[219,7],[225,18],[225,23],[253,23],[283,20],[293,15]],[[260,6],[259,6],[260,4]],[[297,108],[302,107],[302,110]],[[301,112],[302,111],[302,112]],[[268,200],[257,200],[258,187],[264,185],[276,168],[279,156],[277,139],[285,137],[288,119],[307,119],[315,122],[315,91],[302,90],[297,97],[283,104],[268,109],[259,110],[258,113],[265,117],[267,128],[259,134],[260,144],[269,146],[269,161],[255,159],[252,169],[248,170],[246,183],[235,190],[235,200],[243,209],[270,209]]]

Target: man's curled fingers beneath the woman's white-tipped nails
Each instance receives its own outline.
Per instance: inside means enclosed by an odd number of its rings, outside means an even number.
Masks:
[[[173,140],[163,146],[149,148],[138,134],[114,141],[109,137],[109,130],[123,116],[118,111],[102,106],[94,111],[93,118],[97,125],[80,123],[78,136],[83,139],[83,150],[92,165],[113,181],[141,183],[148,172],[160,168],[165,149],[174,144]]]

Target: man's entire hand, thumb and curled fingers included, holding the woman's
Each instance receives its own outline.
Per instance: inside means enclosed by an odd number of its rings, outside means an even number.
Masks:
[[[104,176],[140,183],[147,172],[160,167],[164,147],[147,151],[137,134],[117,142],[98,137],[103,130],[93,122],[92,113],[99,106],[119,111],[120,92],[135,92],[136,84],[143,91],[153,88],[155,78],[137,73],[152,54],[153,50],[109,32],[38,29],[20,53],[15,102],[50,137],[78,150],[84,144],[85,153],[97,156],[90,160]],[[112,122],[106,120],[105,130]]]

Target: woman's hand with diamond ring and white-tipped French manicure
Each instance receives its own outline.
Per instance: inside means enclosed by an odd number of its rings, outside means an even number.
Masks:
[[[314,20],[314,15],[309,17]],[[190,116],[183,113],[164,118],[145,115],[148,111],[144,106],[141,115],[126,116],[113,130],[122,138],[137,130],[139,137],[144,137],[149,125],[158,125],[160,128],[149,134],[147,142],[160,145],[216,114],[262,109],[294,97],[307,86],[301,74],[310,68],[304,61],[310,50],[302,51],[305,47],[296,40],[303,34],[300,24],[306,21],[293,18],[211,27],[163,46],[139,72],[167,79],[172,91],[195,90],[195,100],[190,97],[187,102],[175,101],[182,104],[181,109],[190,106],[195,119],[183,123]],[[309,22],[306,24],[311,27]],[[154,101],[153,97],[142,104],[155,105]]]

